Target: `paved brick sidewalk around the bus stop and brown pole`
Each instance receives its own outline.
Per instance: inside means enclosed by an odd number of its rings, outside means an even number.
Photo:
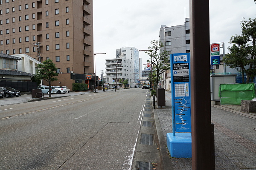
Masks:
[[[166,133],[172,133],[171,92],[166,91],[166,108],[153,109],[164,170],[192,170],[191,158],[171,158]],[[240,106],[212,105],[215,134],[215,170],[256,170],[256,114]]]

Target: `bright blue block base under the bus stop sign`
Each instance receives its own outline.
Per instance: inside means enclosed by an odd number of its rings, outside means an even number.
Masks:
[[[172,157],[192,158],[191,133],[167,133],[167,147]]]

